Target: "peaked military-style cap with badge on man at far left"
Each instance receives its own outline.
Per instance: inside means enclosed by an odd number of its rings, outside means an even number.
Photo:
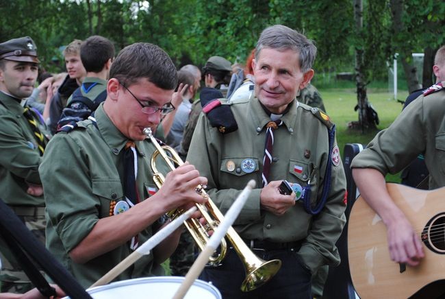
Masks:
[[[13,38],[0,44],[0,59],[40,62],[37,58],[37,47],[29,36]]]

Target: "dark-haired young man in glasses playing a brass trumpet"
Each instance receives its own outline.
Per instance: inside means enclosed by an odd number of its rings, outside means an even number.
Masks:
[[[64,126],[47,147],[39,169],[47,247],[84,287],[147,241],[166,212],[203,202],[194,189],[207,180],[188,163],[167,174],[159,190],[152,179],[155,147],[143,130],[154,130],[161,115],[174,109],[170,100],[176,85],[175,65],[160,47],[125,47],[112,64],[107,98],[94,118]],[[116,279],[164,274],[160,264],[174,252],[180,233]]]

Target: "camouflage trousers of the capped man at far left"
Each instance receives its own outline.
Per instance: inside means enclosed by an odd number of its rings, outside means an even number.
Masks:
[[[44,229],[46,221],[44,215],[33,216],[18,216],[26,227],[36,236],[36,238],[44,245]],[[21,270],[20,265],[16,261],[14,255],[5,244],[5,241],[0,238],[0,259],[1,259],[1,272],[0,272],[0,291],[1,293],[19,293],[23,294],[34,287],[29,281],[25,272]]]

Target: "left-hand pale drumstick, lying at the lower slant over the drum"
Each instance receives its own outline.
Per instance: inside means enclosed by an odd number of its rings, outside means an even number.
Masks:
[[[161,228],[158,232],[155,233],[150,239],[145,241],[141,246],[139,246],[136,250],[133,251],[129,256],[127,256],[123,261],[118,263],[112,270],[110,270],[107,274],[99,278],[97,282],[93,283],[91,287],[97,287],[99,285],[106,285],[110,283],[111,280],[116,278],[120,273],[127,270],[127,268],[138,259],[140,259],[144,254],[149,254],[150,250],[155,248],[157,244],[161,243],[166,237],[168,237],[172,232],[174,232],[183,222],[185,222],[194,212],[196,212],[196,206],[189,208],[185,213],[181,214],[179,217],[175,218],[170,224]]]

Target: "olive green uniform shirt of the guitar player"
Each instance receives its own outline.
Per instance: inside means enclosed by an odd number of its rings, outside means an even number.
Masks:
[[[445,186],[445,89],[420,95],[409,104],[355,156],[351,167],[396,174],[419,154],[429,170],[429,188]]]

